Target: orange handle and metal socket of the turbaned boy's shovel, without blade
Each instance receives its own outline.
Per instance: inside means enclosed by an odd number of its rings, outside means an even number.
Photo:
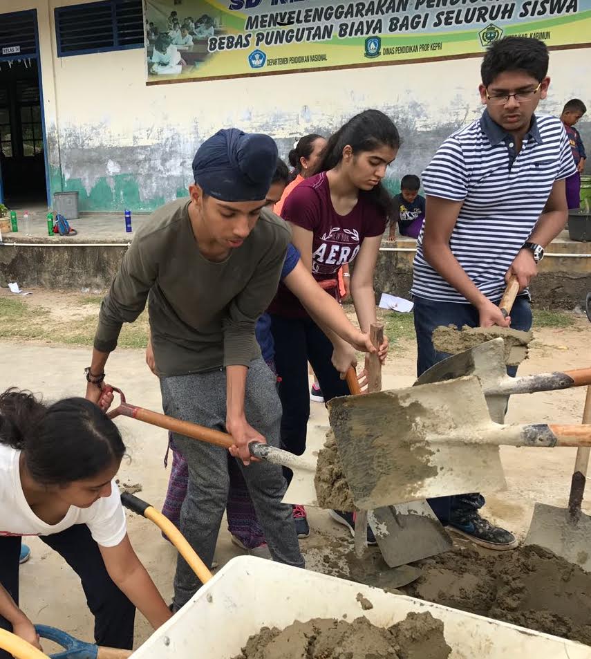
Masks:
[[[353,372],[355,373],[355,371]],[[359,387],[359,384],[357,387]],[[197,423],[182,421],[180,419],[174,418],[173,416],[167,416],[166,414],[160,414],[160,412],[154,412],[151,409],[144,409],[143,407],[138,407],[137,405],[131,405],[131,403],[126,402],[125,394],[121,391],[121,389],[109,385],[109,390],[116,391],[121,397],[120,405],[115,407],[115,409],[112,409],[107,415],[111,419],[114,419],[117,416],[129,416],[133,419],[138,419],[138,421],[143,421],[144,423],[149,423],[150,425],[156,425],[160,428],[164,428],[165,430],[176,432],[179,435],[184,435],[185,437],[190,437],[191,439],[198,439],[201,442],[207,442],[208,444],[221,446],[225,449],[229,449],[229,447],[234,446],[234,438],[232,438],[232,435],[227,434],[227,432],[206,428],[205,426],[198,425]],[[310,470],[312,468],[311,465],[308,465],[308,462],[301,456],[295,456],[292,453],[283,451],[282,449],[276,449],[275,447],[269,446],[268,444],[251,442],[248,445],[248,448],[250,450],[250,454],[254,458],[260,458],[261,460],[266,460],[276,465],[290,467],[290,469],[302,467],[303,469]],[[312,471],[315,471],[315,468],[312,469]]]

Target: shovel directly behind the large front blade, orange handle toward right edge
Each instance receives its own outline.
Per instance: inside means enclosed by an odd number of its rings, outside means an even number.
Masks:
[[[487,398],[491,419],[496,423],[503,423],[505,420],[507,402],[509,402],[509,396],[514,393],[555,391],[556,389],[570,389],[570,387],[591,384],[591,369],[536,373],[536,375],[511,378],[507,375],[505,368],[504,353],[503,339],[488,341],[431,366],[415,384],[441,382],[461,378],[464,375],[476,375]]]

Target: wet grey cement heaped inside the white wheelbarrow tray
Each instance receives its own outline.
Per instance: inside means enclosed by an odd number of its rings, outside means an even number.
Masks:
[[[234,659],[447,659],[450,652],[441,620],[431,613],[409,613],[388,629],[367,618],[315,618],[283,630],[263,627]]]

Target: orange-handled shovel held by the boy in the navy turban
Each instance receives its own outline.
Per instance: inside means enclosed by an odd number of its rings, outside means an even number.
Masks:
[[[121,397],[120,405],[109,412],[109,418],[111,419],[117,416],[129,416],[133,419],[138,419],[138,421],[156,425],[165,430],[171,430],[172,432],[184,435],[185,437],[198,439],[225,449],[229,449],[229,447],[234,445],[232,435],[221,432],[220,430],[206,428],[196,423],[190,423],[189,421],[182,421],[166,414],[160,414],[160,412],[138,407],[137,405],[131,405],[131,403],[126,402],[121,389],[117,389],[117,387],[111,387],[111,389],[117,391]],[[317,463],[316,456],[310,454],[308,451],[304,452],[301,456],[296,456],[282,449],[258,442],[251,442],[248,447],[250,454],[254,458],[266,460],[267,462],[288,467],[292,470],[294,475],[288,492],[283,499],[284,503],[297,501],[302,505],[317,505],[316,488],[314,485]],[[290,498],[286,501],[285,499],[288,497],[288,494]]]

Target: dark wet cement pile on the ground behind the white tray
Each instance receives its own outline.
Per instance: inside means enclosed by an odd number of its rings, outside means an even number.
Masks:
[[[458,548],[417,566],[406,595],[591,645],[591,574],[541,547]]]

